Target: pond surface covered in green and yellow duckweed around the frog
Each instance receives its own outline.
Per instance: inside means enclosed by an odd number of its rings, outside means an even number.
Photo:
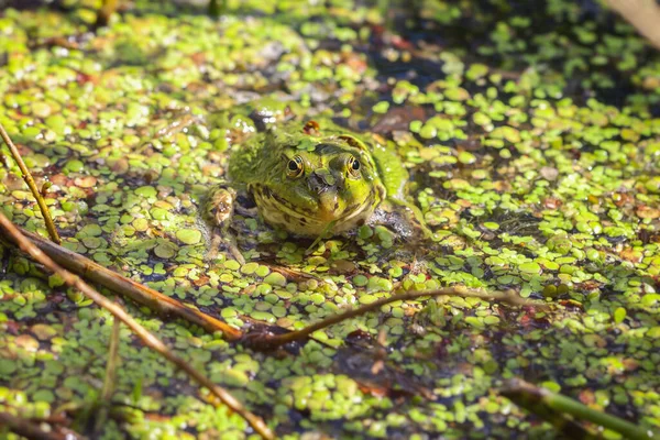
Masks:
[[[262,353],[125,304],[279,436],[558,438],[498,394],[512,377],[660,428],[660,56],[623,20],[586,0],[234,0],[217,20],[135,0],[95,31],[97,3],[0,1],[0,122],[68,249],[240,328],[453,285],[551,305],[399,301]],[[306,254],[238,216],[246,263],[209,261],[198,208],[260,112],[387,144],[435,241],[383,211]],[[1,152],[0,209],[45,235]],[[88,406],[110,315],[0,252],[0,410]],[[249,436],[121,341],[103,438]]]

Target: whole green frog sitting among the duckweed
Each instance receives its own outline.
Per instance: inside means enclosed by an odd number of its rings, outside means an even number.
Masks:
[[[227,177],[204,202],[213,242],[244,262],[231,233],[235,212],[260,216],[271,227],[317,243],[366,224],[385,201],[403,207],[432,238],[420,209],[408,200],[407,169],[383,141],[330,121],[322,121],[322,128],[316,121],[286,121],[252,133],[232,148]],[[251,200],[252,207],[239,199]]]

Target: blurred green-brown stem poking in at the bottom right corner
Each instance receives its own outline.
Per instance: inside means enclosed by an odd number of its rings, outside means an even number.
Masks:
[[[559,424],[560,429],[563,428],[561,418],[565,419],[565,416],[571,416],[573,419],[585,420],[618,432],[625,439],[648,440],[657,438],[657,435],[650,430],[645,431],[644,428],[627,420],[590,408],[570,397],[552,393],[547,388],[541,388],[519,378],[509,381],[501,393],[528,411],[556,425]],[[566,424],[570,421],[572,420],[566,419]]]

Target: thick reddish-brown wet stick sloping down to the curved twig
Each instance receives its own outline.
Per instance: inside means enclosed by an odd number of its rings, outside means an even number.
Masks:
[[[32,243],[61,266],[64,266],[68,271],[85,277],[90,282],[98,283],[118,295],[144,305],[161,316],[176,316],[183,318],[209,332],[221,331],[224,339],[229,341],[235,341],[242,337],[240,330],[229,326],[227,322],[222,322],[199,310],[186,307],[174,298],[165,296],[160,292],[127,278],[125,276],[119,275],[80,254],[43,239],[41,235],[25,231],[22,228],[20,230],[23,235],[26,235]],[[11,240],[11,237],[9,235],[7,238]]]

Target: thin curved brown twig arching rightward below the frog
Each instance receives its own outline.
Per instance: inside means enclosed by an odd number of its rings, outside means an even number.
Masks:
[[[329,318],[326,318],[323,320],[315,322],[315,323],[307,326],[304,329],[300,329],[297,331],[292,331],[289,333],[283,333],[283,334],[271,334],[271,336],[264,338],[263,342],[261,342],[258,340],[258,336],[257,336],[256,337],[257,339],[251,338],[250,342],[255,345],[263,344],[268,348],[271,348],[271,346],[274,348],[274,346],[283,345],[288,342],[299,341],[301,339],[309,337],[311,333],[314,333],[317,330],[321,330],[326,327],[333,326],[333,324],[344,321],[346,319],[351,319],[356,316],[364,315],[369,311],[376,310],[389,302],[416,299],[416,298],[425,297],[425,296],[443,296],[443,295],[460,296],[463,298],[495,299],[495,300],[501,300],[503,302],[506,302],[506,304],[509,304],[513,306],[548,307],[548,305],[544,302],[538,302],[538,301],[532,301],[532,300],[522,298],[522,297],[516,295],[513,290],[480,292],[480,290],[475,290],[475,289],[468,289],[465,287],[446,287],[446,288],[428,290],[428,292],[414,290],[414,292],[406,292],[403,294],[393,295],[389,298],[378,299],[377,301],[367,304],[366,306],[362,306],[356,309],[346,310],[342,314],[332,315]]]

